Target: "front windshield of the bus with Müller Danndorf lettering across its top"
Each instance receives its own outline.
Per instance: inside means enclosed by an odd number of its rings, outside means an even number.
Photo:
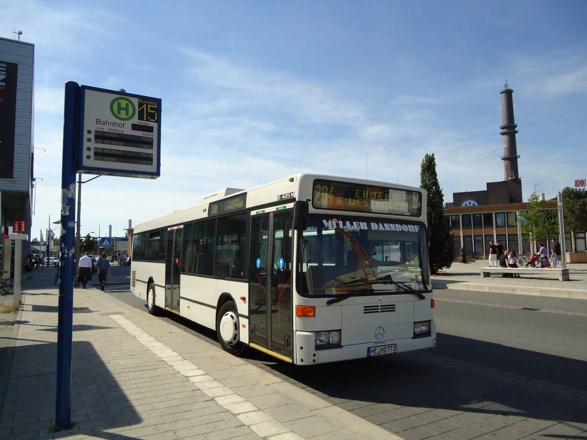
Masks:
[[[423,224],[396,219],[309,216],[299,245],[302,295],[377,295],[431,290]]]

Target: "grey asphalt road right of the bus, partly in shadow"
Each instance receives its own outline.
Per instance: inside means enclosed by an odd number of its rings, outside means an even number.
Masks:
[[[587,317],[534,309],[440,302],[437,352],[587,390]]]

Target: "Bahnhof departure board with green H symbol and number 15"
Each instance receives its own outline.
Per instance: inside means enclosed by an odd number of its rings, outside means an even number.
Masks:
[[[79,172],[157,178],[161,100],[82,86]]]

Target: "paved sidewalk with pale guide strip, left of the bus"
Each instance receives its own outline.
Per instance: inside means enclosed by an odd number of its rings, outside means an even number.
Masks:
[[[53,432],[58,290],[46,269],[2,336],[0,438],[400,438],[95,288],[74,294],[75,425]]]

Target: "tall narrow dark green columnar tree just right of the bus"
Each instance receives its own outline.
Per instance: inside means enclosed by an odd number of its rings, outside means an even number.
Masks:
[[[426,189],[427,215],[430,236],[428,237],[428,259],[430,273],[436,275],[442,268],[450,268],[454,259],[454,238],[444,219],[443,194],[436,174],[434,154],[426,154],[420,171],[420,187]]]

